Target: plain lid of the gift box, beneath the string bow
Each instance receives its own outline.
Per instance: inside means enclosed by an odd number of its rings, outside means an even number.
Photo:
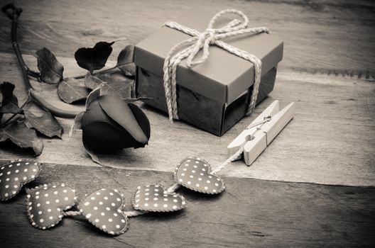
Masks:
[[[202,32],[215,13],[217,11],[191,9],[176,22]],[[221,16],[214,28],[225,26],[234,18],[238,17],[229,14]],[[163,26],[136,45],[134,62],[138,67],[163,77],[165,56],[175,44],[188,38],[191,36]],[[259,57],[262,61],[262,75],[283,58],[283,42],[267,33],[237,35],[222,41]],[[176,76],[177,84],[216,101],[232,103],[254,84],[254,64],[216,45],[210,45],[209,49],[210,56],[202,64],[189,69],[185,60],[180,62]],[[197,57],[201,55],[202,51]]]

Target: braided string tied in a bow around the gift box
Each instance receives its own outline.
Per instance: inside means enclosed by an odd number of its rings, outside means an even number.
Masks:
[[[217,21],[220,16],[227,13],[236,14],[241,18],[241,21],[234,19],[222,28],[213,28],[215,21]],[[223,38],[242,35],[245,33],[269,33],[268,28],[247,28],[248,25],[249,18],[247,18],[244,13],[236,9],[225,9],[216,13],[208,24],[207,29],[202,33],[192,28],[182,26],[173,21],[168,21],[164,24],[164,26],[179,30],[192,36],[192,38],[183,40],[182,42],[172,47],[172,49],[168,52],[168,55],[165,57],[163,65],[163,86],[170,122],[173,122],[173,119],[178,120],[176,95],[176,71],[178,64],[180,64],[181,60],[184,60],[185,58],[187,59],[186,65],[189,68],[195,66],[196,64],[205,62],[205,60],[207,60],[210,55],[210,45],[217,45],[218,47],[221,47],[222,49],[227,50],[228,52],[231,52],[232,54],[237,55],[238,57],[241,57],[244,60],[248,60],[249,62],[254,64],[254,87],[249,101],[249,106],[246,111],[246,115],[249,115],[251,111],[254,110],[256,98],[259,91],[259,84],[261,82],[261,60],[259,60],[259,58],[255,55],[251,55],[249,52],[240,50],[239,48],[224,43],[221,40]],[[182,47],[185,48],[181,50]],[[196,58],[197,53],[200,50],[202,50],[203,54],[201,57]]]

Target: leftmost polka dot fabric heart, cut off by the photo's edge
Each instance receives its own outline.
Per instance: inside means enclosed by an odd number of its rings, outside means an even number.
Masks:
[[[0,201],[16,196],[22,186],[33,181],[40,172],[39,164],[31,161],[12,161],[0,167]]]

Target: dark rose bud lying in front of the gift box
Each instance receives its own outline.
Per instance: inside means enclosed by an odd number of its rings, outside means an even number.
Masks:
[[[93,152],[144,147],[150,138],[145,113],[118,96],[104,95],[91,101],[81,125],[83,142]]]

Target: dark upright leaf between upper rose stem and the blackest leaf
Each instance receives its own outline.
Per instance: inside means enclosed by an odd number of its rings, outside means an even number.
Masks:
[[[62,72],[64,67],[50,50],[43,47],[36,52],[38,59],[38,69],[40,71],[40,79],[47,84],[58,84],[62,80]]]

